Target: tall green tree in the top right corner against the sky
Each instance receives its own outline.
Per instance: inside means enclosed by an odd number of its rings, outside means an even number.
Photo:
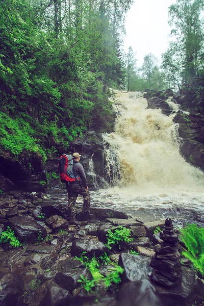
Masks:
[[[177,45],[183,52],[182,67],[184,81],[198,75],[203,31],[200,13],[202,0],[177,0],[169,7],[169,24],[174,25],[171,34],[177,38]]]

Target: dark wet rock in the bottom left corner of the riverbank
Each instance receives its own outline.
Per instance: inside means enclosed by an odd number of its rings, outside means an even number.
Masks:
[[[22,278],[14,273],[4,274],[2,272],[0,272],[0,278],[0,305],[23,305],[24,283]]]

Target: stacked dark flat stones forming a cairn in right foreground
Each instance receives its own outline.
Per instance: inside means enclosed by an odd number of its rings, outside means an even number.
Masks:
[[[154,247],[156,254],[150,263],[153,268],[150,277],[152,282],[172,288],[181,283],[182,268],[181,255],[177,249],[178,235],[174,233],[170,218],[166,219],[160,238],[164,242]]]

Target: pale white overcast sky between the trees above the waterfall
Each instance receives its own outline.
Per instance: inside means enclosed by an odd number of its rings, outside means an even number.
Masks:
[[[168,48],[171,28],[168,25],[168,7],[176,0],[135,0],[126,14],[124,51],[132,46],[137,66],[143,64],[144,56],[152,53],[161,64],[161,54]]]

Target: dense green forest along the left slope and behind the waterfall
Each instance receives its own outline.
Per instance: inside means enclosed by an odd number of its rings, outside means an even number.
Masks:
[[[174,40],[158,66],[125,54],[133,0],[0,0],[0,154],[43,161],[89,129],[109,130],[110,88],[187,90],[203,111],[203,1],[169,7]],[[139,31],[139,29],[135,29]],[[142,42],[140,42],[142,43]]]

